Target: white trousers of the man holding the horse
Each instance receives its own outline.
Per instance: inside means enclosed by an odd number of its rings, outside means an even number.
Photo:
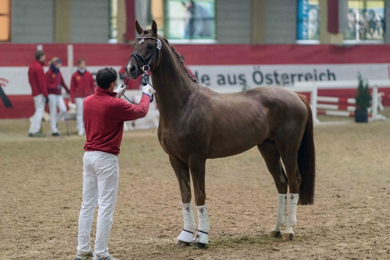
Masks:
[[[91,250],[90,233],[98,205],[95,255],[108,257],[107,242],[117,202],[119,166],[117,156],[104,152],[85,152],[83,157],[82,204],[78,218],[80,252]]]

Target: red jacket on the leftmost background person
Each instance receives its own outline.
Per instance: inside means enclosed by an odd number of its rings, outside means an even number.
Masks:
[[[28,81],[31,85],[33,97],[43,94],[47,97],[47,87],[45,81],[45,74],[43,73],[42,63],[39,60],[35,60],[33,64],[28,68]]]

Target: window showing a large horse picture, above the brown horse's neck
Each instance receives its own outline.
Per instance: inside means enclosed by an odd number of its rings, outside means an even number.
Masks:
[[[167,0],[168,39],[215,39],[215,0]]]

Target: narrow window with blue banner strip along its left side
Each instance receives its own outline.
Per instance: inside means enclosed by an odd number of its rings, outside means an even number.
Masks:
[[[319,0],[298,0],[297,40],[320,39]]]

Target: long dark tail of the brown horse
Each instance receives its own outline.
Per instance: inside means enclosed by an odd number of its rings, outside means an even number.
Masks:
[[[308,119],[306,121],[305,132],[301,140],[298,151],[298,169],[301,175],[301,185],[299,187],[299,204],[308,205],[314,203],[315,187],[315,149],[313,135],[312,108],[305,96],[297,94],[305,103],[308,109]]]

